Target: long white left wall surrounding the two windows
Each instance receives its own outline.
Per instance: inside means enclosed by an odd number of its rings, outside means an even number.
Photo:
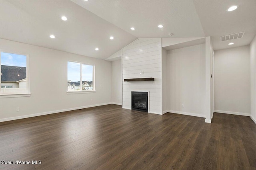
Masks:
[[[112,84],[110,61],[5,39],[0,39],[0,44],[2,50],[29,55],[31,92],[30,97],[1,98],[1,121],[110,104]],[[68,60],[95,64],[96,93],[67,94]],[[56,88],[51,88],[50,84],[54,84]],[[20,107],[20,111],[16,111],[16,107]]]

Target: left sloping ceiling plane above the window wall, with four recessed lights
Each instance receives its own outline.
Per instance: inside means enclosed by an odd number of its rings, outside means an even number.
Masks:
[[[99,59],[137,39],[69,0],[0,0],[0,37]]]

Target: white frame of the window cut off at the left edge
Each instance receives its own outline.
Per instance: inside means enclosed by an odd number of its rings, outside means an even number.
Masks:
[[[26,81],[27,81],[27,90],[26,93],[1,93],[0,98],[17,98],[17,97],[30,97],[30,81],[29,81],[29,55],[25,53],[20,53],[17,51],[2,50],[0,49],[0,71],[1,71],[1,53],[11,53],[17,55],[26,56]],[[1,85],[1,76],[0,76],[0,85]],[[2,85],[1,85],[2,86]]]

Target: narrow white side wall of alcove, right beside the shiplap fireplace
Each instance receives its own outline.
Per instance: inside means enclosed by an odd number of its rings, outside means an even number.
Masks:
[[[168,112],[167,51],[162,48],[162,112]]]

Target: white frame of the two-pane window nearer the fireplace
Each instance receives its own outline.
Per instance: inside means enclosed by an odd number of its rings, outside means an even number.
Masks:
[[[80,94],[80,93],[95,93],[96,92],[96,86],[95,86],[95,64],[88,64],[88,63],[82,63],[78,61],[67,61],[67,80],[68,80],[68,62],[73,62],[73,63],[79,63],[80,64],[80,90],[76,91],[67,91],[67,94]],[[92,70],[92,82],[93,82],[93,90],[82,90],[82,65],[90,65],[93,66]]]

